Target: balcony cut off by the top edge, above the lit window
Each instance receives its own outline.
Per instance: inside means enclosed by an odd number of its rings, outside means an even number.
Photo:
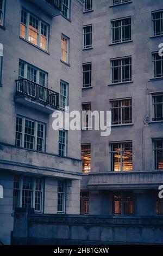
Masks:
[[[29,0],[52,17],[61,15],[62,0]]]

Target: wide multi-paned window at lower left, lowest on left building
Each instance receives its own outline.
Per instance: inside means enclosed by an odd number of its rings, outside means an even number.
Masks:
[[[42,212],[43,180],[32,176],[14,176],[13,210],[16,207],[34,208]]]

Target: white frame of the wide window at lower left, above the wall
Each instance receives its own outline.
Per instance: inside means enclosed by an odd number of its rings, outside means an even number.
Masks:
[[[41,203],[40,203],[40,206],[41,206],[41,209],[40,211],[38,210],[34,210],[35,212],[37,213],[43,213],[43,200],[44,200],[44,180],[42,177],[37,177],[37,176],[28,176],[28,175],[17,175],[18,178],[19,178],[19,188],[17,189],[13,189],[13,193],[14,193],[14,190],[18,190],[18,194],[19,194],[19,199],[18,199],[18,207],[22,208],[22,192],[23,190],[26,190],[26,189],[23,189],[23,178],[25,177],[29,177],[29,178],[32,178],[32,208],[35,209],[35,192],[36,192],[36,180],[37,178],[41,178]],[[14,203],[14,201],[13,201]],[[14,205],[13,205],[14,206]],[[14,211],[14,207],[13,207],[13,211]]]

